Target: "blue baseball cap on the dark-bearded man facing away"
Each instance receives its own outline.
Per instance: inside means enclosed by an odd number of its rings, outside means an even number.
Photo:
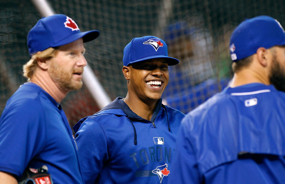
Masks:
[[[232,61],[238,61],[255,54],[259,47],[276,45],[285,45],[285,31],[276,19],[261,15],[246,19],[235,28],[229,50]]]

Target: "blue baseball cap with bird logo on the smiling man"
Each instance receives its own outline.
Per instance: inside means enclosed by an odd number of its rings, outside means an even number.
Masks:
[[[154,58],[165,58],[169,66],[176,65],[179,60],[168,57],[166,43],[153,36],[133,38],[124,49],[124,66]]]

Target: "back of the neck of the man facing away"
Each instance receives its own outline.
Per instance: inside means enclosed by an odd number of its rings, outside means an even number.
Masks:
[[[270,85],[270,81],[267,75],[261,74],[261,72],[256,72],[255,70],[243,69],[234,74],[232,83],[230,84],[231,88],[246,85],[250,83],[263,83],[265,85]]]

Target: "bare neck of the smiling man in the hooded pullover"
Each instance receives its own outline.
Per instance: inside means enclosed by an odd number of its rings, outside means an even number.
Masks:
[[[124,101],[134,113],[149,121],[151,120],[151,117],[157,105],[157,101],[152,100],[146,103],[139,98],[131,97],[131,95],[129,95],[129,92],[127,93]]]

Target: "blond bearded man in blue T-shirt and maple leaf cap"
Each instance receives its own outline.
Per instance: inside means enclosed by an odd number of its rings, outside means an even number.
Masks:
[[[0,119],[0,183],[18,183],[23,173],[46,170],[54,184],[83,183],[77,145],[60,103],[69,91],[81,88],[83,42],[98,36],[97,30],[80,32],[74,20],[61,14],[31,28],[31,59],[23,66],[28,82],[7,101]],[[34,183],[43,182],[51,183],[50,177],[34,178]]]

